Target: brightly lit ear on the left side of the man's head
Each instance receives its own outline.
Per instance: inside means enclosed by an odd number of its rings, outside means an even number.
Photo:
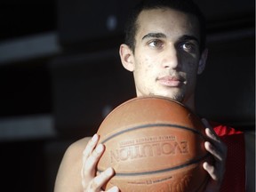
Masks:
[[[134,70],[133,52],[127,44],[120,45],[119,55],[124,68],[132,72]]]

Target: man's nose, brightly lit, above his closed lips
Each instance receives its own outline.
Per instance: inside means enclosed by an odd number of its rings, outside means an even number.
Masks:
[[[163,67],[176,69],[179,67],[178,52],[173,44],[170,44],[163,52]]]

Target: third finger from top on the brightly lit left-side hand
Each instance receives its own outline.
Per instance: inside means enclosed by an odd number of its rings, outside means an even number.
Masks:
[[[109,167],[104,172],[101,172],[98,176],[96,176],[89,186],[89,190],[99,191],[102,186],[110,180],[110,178],[114,175],[113,168]],[[115,189],[115,188],[114,188]]]

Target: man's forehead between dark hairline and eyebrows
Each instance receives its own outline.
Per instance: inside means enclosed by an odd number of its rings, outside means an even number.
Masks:
[[[140,12],[137,20],[136,37],[148,33],[164,33],[167,37],[196,36],[199,39],[199,22],[195,16],[172,10],[158,8]]]

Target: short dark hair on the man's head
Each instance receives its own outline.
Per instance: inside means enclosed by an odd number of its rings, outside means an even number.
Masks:
[[[159,8],[170,8],[196,16],[200,29],[200,52],[204,51],[206,38],[204,15],[192,0],[142,0],[132,9],[124,28],[124,43],[132,49],[132,52],[135,49],[135,36],[139,27],[137,20],[140,12]]]

